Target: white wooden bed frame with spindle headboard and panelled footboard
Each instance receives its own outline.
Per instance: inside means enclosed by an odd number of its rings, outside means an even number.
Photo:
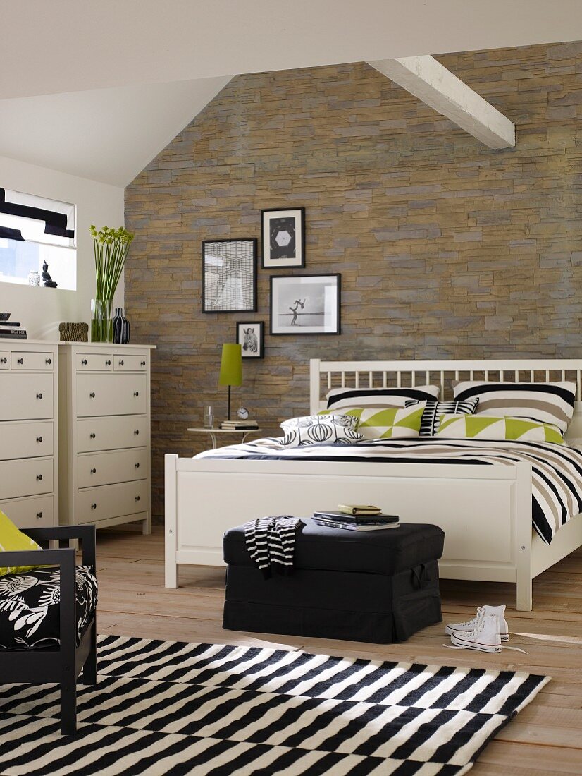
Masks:
[[[439,385],[449,398],[450,379],[576,383],[573,419],[565,435],[582,440],[580,375],[582,360],[310,362],[310,412],[325,408],[335,386],[386,387]],[[418,440],[416,441],[418,442]],[[422,447],[406,440],[411,448]],[[494,442],[488,443],[490,449]],[[381,445],[387,447],[389,445]],[[391,445],[401,448],[402,445]],[[405,445],[404,445],[405,446]],[[552,445],[561,450],[562,445]],[[502,445],[501,445],[502,447]],[[303,449],[301,449],[303,451]],[[296,451],[295,451],[296,452]],[[420,450],[420,461],[339,456],[325,459],[311,449],[304,455],[272,456],[260,442],[233,445],[206,456],[165,462],[166,586],[177,587],[181,563],[221,566],[227,528],[265,514],[308,516],[338,503],[378,503],[401,521],[431,522],[446,533],[440,576],[460,580],[513,582],[517,608],[532,608],[532,579],[582,545],[582,515],[569,514],[550,543],[532,528],[532,467],[529,455],[468,457],[438,465]],[[489,451],[491,452],[491,450]],[[495,452],[495,451],[494,451]],[[512,448],[510,452],[515,452]],[[527,450],[525,452],[528,452]],[[415,454],[418,454],[418,450]],[[582,455],[567,452],[577,469]],[[577,460],[579,457],[579,461]],[[471,459],[474,459],[473,461]],[[485,465],[483,465],[485,463]],[[570,499],[570,501],[572,501]],[[575,499],[573,500],[575,503]],[[570,505],[570,511],[572,507]]]

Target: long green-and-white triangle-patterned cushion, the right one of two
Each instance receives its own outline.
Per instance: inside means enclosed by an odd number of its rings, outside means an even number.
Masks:
[[[436,435],[449,439],[506,439],[564,444],[562,432],[557,426],[508,415],[441,415]]]

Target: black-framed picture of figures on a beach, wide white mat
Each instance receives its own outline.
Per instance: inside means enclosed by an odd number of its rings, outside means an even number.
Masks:
[[[341,275],[271,275],[271,334],[340,334]]]

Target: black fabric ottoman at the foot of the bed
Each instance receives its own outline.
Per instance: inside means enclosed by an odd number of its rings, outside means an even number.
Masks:
[[[355,532],[301,521],[293,572],[270,579],[253,565],[243,525],[226,532],[224,628],[385,644],[441,622],[441,528]]]

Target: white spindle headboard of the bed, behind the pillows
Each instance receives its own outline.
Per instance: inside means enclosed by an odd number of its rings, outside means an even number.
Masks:
[[[515,359],[494,361],[322,361],[309,362],[309,404],[313,413],[325,409],[325,393],[331,388],[411,387],[438,385],[441,399],[452,398],[451,379],[508,380],[515,383],[576,383],[576,403],[568,431],[571,443],[582,440],[582,359]]]

